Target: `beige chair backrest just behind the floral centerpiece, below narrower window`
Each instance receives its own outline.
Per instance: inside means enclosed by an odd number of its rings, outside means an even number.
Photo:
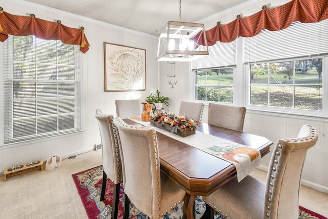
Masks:
[[[204,104],[191,102],[191,101],[181,101],[179,114],[185,115],[186,117],[191,117],[193,120],[201,122],[203,116]]]

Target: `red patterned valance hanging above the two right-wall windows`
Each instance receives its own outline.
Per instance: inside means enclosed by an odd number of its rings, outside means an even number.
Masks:
[[[233,22],[220,25],[206,31],[208,46],[217,41],[229,43],[238,36],[251,37],[261,30],[282,30],[293,22],[315,23],[328,18],[328,1],[326,0],[293,0],[276,8],[266,8],[248,17],[237,18]],[[196,36],[195,38],[197,38]],[[204,38],[201,45],[205,45]]]

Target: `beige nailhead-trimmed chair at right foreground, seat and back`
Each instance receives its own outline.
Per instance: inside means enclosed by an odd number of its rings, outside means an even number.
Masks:
[[[267,182],[248,175],[223,185],[203,201],[227,218],[298,218],[301,172],[306,152],[318,140],[314,127],[303,125],[297,138],[278,140]],[[235,177],[236,178],[236,177]],[[213,218],[213,217],[212,217]]]

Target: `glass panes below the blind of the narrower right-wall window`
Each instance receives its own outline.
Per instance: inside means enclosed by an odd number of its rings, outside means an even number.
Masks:
[[[197,70],[195,99],[233,103],[233,68]]]

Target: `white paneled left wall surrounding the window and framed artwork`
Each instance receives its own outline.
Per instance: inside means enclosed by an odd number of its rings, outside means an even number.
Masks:
[[[20,0],[0,0],[0,6],[4,11],[15,15],[26,16],[33,13],[35,17],[47,21],[58,19],[68,27],[83,26],[90,44],[89,51],[82,55],[83,131],[44,141],[1,147],[0,173],[7,167],[40,158],[46,160],[53,154],[65,158],[93,149],[94,144],[100,143],[99,128],[93,115],[96,108],[116,115],[115,99],[145,99],[149,92],[156,91],[159,81],[157,37]],[[146,49],[146,91],[104,92],[104,42]]]

